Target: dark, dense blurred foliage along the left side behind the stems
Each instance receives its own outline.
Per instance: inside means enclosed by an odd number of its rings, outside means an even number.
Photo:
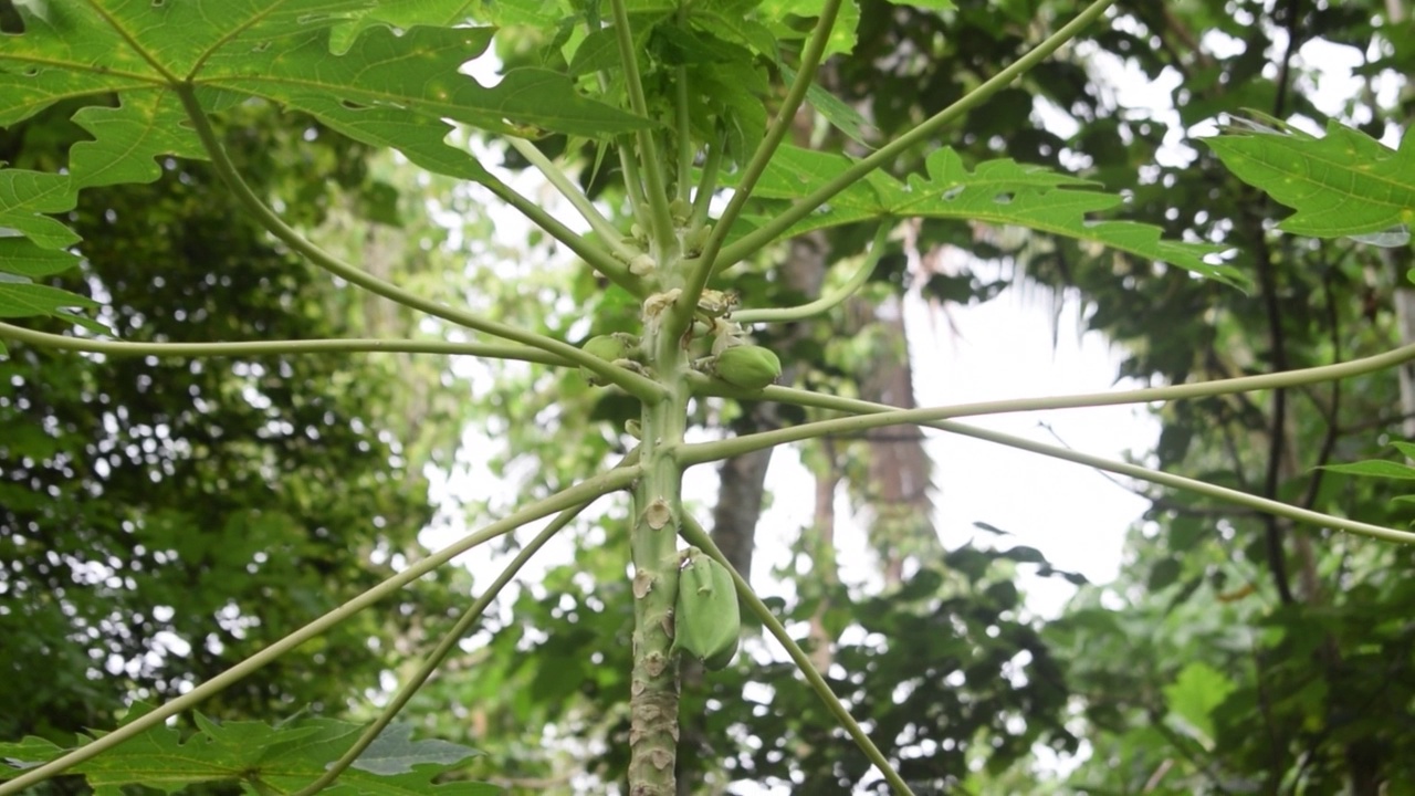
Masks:
[[[229,144],[258,186],[300,197],[296,222],[316,222],[331,194],[362,190],[364,161],[347,143],[266,112],[245,120]],[[47,159],[78,133],[47,115],[0,137],[0,160],[54,167]],[[291,161],[330,178],[277,178]],[[100,295],[105,322],[137,341],[348,329],[328,312],[328,286],[272,248],[209,170],[163,171],[153,186],[86,191],[68,215],[83,235],[82,280],[45,285]],[[134,697],[208,680],[381,579],[388,552],[409,548],[430,517],[426,484],[379,419],[389,391],[376,363],[10,354],[0,361],[6,738],[65,744],[112,725]],[[392,616],[347,625],[208,710],[344,710],[406,627]]]

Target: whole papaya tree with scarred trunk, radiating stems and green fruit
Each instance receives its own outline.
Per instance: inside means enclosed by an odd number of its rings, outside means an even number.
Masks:
[[[1234,289],[1248,285],[1248,275],[1225,261],[1225,246],[1166,239],[1157,227],[1115,218],[1122,197],[1085,178],[1006,159],[968,163],[938,143],[949,125],[982,108],[1080,31],[1107,24],[1112,1],[1091,3],[1054,31],[1037,35],[1013,64],[890,140],[872,140],[859,112],[815,84],[829,57],[850,50],[862,23],[857,7],[843,0],[13,3],[13,18],[0,37],[0,125],[23,122],[61,102],[76,103],[72,122],[89,137],[68,149],[62,167],[0,170],[0,227],[8,231],[0,238],[0,313],[68,326],[67,333],[52,333],[0,324],[7,347],[183,360],[416,353],[536,363],[579,374],[586,390],[614,397],[623,411],[610,418],[613,433],[634,442],[614,466],[586,472],[576,483],[525,501],[341,606],[311,616],[301,629],[181,697],[163,705],[134,705],[127,721],[112,731],[95,732],[74,748],[38,738],[0,746],[3,756],[17,763],[3,771],[7,780],[0,783],[0,795],[64,772],[82,773],[96,788],[175,789],[226,780],[262,793],[432,788],[433,776],[473,752],[412,741],[406,728],[391,722],[525,561],[591,503],[617,493],[627,493],[630,506],[628,559],[623,561],[628,575],[613,592],[631,605],[634,620],[624,693],[628,792],[675,793],[681,670],[702,666],[712,677],[730,664],[741,626],[740,599],[873,765],[873,776],[894,792],[911,793],[900,773],[907,761],[891,746],[899,739],[873,739],[866,732],[869,722],[850,715],[812,657],[685,508],[683,474],[691,467],[791,442],[921,425],[1292,521],[1415,541],[1415,534],[1405,531],[957,419],[1184,401],[1329,381],[1415,357],[1404,348],[1303,371],[918,409],[856,399],[843,390],[777,384],[788,371],[778,351],[764,344],[773,339],[771,330],[838,312],[891,249],[896,229],[910,220],[1023,227],[1087,251],[1112,252],[1131,266],[1139,262]],[[945,20],[954,13],[948,0],[916,6]],[[1041,21],[1036,28],[1049,24]],[[484,85],[464,67],[498,37],[508,68],[494,85]],[[583,263],[583,283],[593,289],[576,295],[580,305],[606,314],[627,309],[630,320],[624,329],[579,339],[552,336],[498,320],[494,312],[478,307],[477,296],[432,297],[355,266],[333,246],[317,245],[290,221],[287,201],[272,201],[252,187],[241,156],[228,143],[241,110],[252,103],[311,119],[362,146],[396,150],[440,178],[488,193]],[[797,140],[798,119],[811,118],[807,108],[855,144],[848,152],[828,152],[812,149],[811,136]],[[471,132],[478,137],[470,137]],[[502,142],[541,171],[577,218],[558,218],[512,187],[487,161],[483,140]],[[918,167],[893,174],[894,164],[907,159]],[[181,160],[209,161],[243,211],[289,252],[341,283],[423,313],[456,333],[443,340],[116,339],[103,324],[100,300],[45,283],[81,266],[85,256],[86,244],[64,224],[65,214],[85,190],[150,183]],[[590,167],[579,178],[572,176],[570,166],[584,161]],[[1262,178],[1276,184],[1288,177],[1290,171]],[[1336,183],[1320,187],[1343,190]],[[826,228],[859,231],[867,241],[862,258],[842,262],[848,273],[833,288],[785,306],[744,302],[754,295],[749,285],[777,276],[773,262],[781,244]],[[1341,227],[1332,231],[1351,232]],[[239,265],[233,269],[239,276]],[[700,406],[727,401],[771,402],[799,409],[805,419],[709,440],[691,433],[702,419]],[[461,612],[426,660],[409,670],[376,720],[365,725],[317,717],[218,724],[197,714],[197,732],[185,742],[164,727],[171,717],[293,654],[454,557],[543,518],[550,518],[549,524]],[[497,792],[477,782],[439,789]]]

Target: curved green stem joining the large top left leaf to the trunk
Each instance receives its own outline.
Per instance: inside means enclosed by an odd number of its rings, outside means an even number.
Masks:
[[[516,329],[505,323],[488,320],[481,316],[424,299],[423,296],[405,290],[391,282],[385,282],[376,276],[365,273],[307,241],[303,235],[290,228],[279,215],[276,215],[275,211],[266,207],[265,203],[260,201],[260,197],[258,197],[255,191],[250,190],[250,186],[248,186],[241,177],[241,173],[226,156],[225,147],[222,147],[221,142],[216,139],[216,132],[211,127],[211,122],[207,119],[205,112],[202,112],[201,105],[197,102],[192,88],[185,85],[180,86],[177,93],[183,101],[183,106],[187,109],[187,116],[191,119],[197,136],[201,139],[202,146],[211,156],[212,166],[221,176],[222,181],[226,183],[226,187],[231,188],[246,210],[249,210],[256,220],[270,231],[272,235],[284,241],[286,245],[304,255],[314,265],[340,276],[341,279],[358,285],[359,288],[364,288],[371,293],[383,296],[391,302],[422,310],[443,320],[450,320],[460,326],[466,326],[467,329],[474,329],[485,334],[501,337],[504,340],[512,340],[524,346],[531,346],[533,348],[541,348],[542,351],[565,357],[566,360],[593,371],[604,381],[618,385],[621,390],[641,401],[652,404],[664,397],[662,387],[630,370],[614,367],[593,354],[580,351],[574,346],[552,340],[543,334]]]

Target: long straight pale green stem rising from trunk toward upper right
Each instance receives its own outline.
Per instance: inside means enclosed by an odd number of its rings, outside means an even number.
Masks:
[[[1044,61],[1063,44],[1071,41],[1071,38],[1081,33],[1082,28],[1094,23],[1114,3],[1115,0],[1097,0],[1095,3],[1091,3],[1091,6],[1088,6],[1085,11],[1081,11],[1077,18],[1071,20],[1065,27],[1047,37],[1046,41],[1019,58],[1016,64],[998,72],[978,88],[969,91],[962,99],[940,110],[913,130],[880,147],[855,166],[836,174],[829,183],[821,186],[805,198],[792,203],[791,207],[784,210],[780,215],[749,232],[740,241],[723,246],[722,254],[716,258],[716,262],[712,266],[713,271],[722,271],[723,268],[729,268],[733,263],[751,256],[753,252],[757,252],[763,246],[775,241],[777,235],[790,229],[792,224],[801,221],[807,215],[811,215],[815,208],[831,201],[835,194],[863,180],[872,171],[894,163],[910,147],[934,140],[942,127],[964,113],[978,108],[988,101],[988,98],[1006,88],[1012,81],[1017,79],[1019,75]]]

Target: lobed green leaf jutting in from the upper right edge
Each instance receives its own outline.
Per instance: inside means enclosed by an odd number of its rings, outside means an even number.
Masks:
[[[1204,139],[1240,180],[1296,210],[1278,228],[1313,238],[1405,245],[1415,220],[1415,136],[1392,150],[1329,122],[1317,137],[1275,119],[1235,119]]]

